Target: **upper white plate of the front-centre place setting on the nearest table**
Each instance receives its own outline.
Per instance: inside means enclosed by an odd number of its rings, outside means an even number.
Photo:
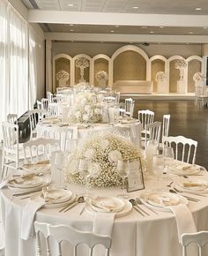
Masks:
[[[115,197],[98,197],[90,200],[89,204],[94,211],[103,213],[118,213],[121,212],[125,206],[123,200]]]

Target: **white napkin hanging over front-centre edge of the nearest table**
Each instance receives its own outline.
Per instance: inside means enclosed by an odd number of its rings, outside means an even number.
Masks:
[[[93,233],[111,237],[115,213],[97,213],[93,222]]]

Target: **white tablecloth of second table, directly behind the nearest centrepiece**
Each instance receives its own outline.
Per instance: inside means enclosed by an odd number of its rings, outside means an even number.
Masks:
[[[58,127],[57,124],[37,124],[37,137],[44,137],[44,132],[52,132]],[[132,142],[136,147],[141,147],[141,124],[139,121],[132,124],[92,124],[88,127],[85,125],[71,125],[63,126],[63,129],[66,127],[77,128],[78,127],[78,143],[85,139],[91,132],[94,131],[110,131],[110,132],[119,132],[123,136],[127,136],[133,140]],[[62,127],[61,127],[62,128]],[[61,143],[62,145],[62,143]]]

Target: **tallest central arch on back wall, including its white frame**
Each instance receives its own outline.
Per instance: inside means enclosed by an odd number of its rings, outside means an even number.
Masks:
[[[149,77],[149,58],[145,51],[127,45],[117,49],[111,57],[113,82],[116,80],[146,80]]]

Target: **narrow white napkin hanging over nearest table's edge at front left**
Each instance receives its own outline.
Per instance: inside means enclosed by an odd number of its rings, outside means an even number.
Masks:
[[[30,200],[22,211],[21,219],[21,234],[20,237],[27,240],[29,237],[33,237],[33,219],[36,211],[40,209],[45,203],[45,200],[41,197]]]

